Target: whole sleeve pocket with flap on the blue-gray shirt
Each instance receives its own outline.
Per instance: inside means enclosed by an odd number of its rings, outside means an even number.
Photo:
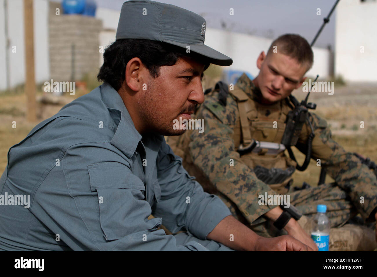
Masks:
[[[132,225],[139,216],[135,207],[144,200],[144,183],[126,165],[101,162],[87,166],[90,189],[97,192],[100,225],[106,241],[134,233]],[[135,217],[135,218],[133,218]]]

